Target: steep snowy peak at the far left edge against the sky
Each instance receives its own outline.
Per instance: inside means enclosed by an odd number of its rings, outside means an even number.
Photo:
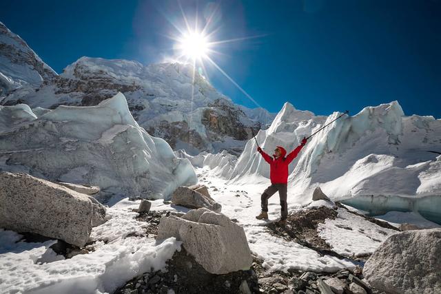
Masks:
[[[56,76],[20,36],[0,22],[0,98],[19,87],[39,87]]]

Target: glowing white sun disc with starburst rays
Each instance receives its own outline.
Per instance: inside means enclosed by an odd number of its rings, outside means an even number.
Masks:
[[[178,48],[189,59],[203,59],[209,51],[209,41],[200,32],[188,32],[178,41]]]

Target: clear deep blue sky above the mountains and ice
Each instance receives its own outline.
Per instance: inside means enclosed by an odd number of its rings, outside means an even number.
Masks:
[[[212,1],[213,2],[213,1]],[[214,1],[212,56],[257,102],[278,112],[331,114],[398,100],[405,114],[441,118],[441,1]],[[181,0],[203,22],[209,1]],[[181,22],[180,22],[181,19]],[[0,21],[57,72],[81,56],[161,62],[181,23],[173,1],[2,0]],[[255,107],[214,67],[209,80],[236,103]]]

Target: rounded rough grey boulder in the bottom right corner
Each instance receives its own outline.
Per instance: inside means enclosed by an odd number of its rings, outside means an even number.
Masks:
[[[363,275],[387,293],[441,293],[441,229],[391,235],[367,260]]]

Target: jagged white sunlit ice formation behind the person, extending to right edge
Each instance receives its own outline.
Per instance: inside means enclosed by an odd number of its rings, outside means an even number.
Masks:
[[[314,116],[285,103],[271,126],[256,139],[272,154],[277,145],[291,151],[340,116]],[[441,120],[405,116],[397,101],[342,116],[312,137],[289,167],[291,202],[306,204],[318,186],[332,200],[369,211],[416,211],[441,222]],[[269,178],[269,165],[249,140],[232,180]],[[438,157],[437,157],[438,156]]]

